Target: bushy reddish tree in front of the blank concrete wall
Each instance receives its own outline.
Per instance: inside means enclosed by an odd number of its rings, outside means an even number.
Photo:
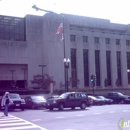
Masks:
[[[42,75],[39,75],[39,74],[34,75],[33,80],[31,80],[31,83],[38,84],[38,87],[41,87],[41,88],[43,84],[43,89],[47,89],[50,86],[50,83],[53,83],[55,85],[55,81],[53,80],[53,77],[49,76],[48,74],[44,74],[43,78],[42,78]]]

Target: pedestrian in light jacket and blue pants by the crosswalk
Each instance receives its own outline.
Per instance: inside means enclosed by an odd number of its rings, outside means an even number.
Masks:
[[[9,103],[13,103],[13,101],[9,97],[9,92],[5,92],[5,94],[4,94],[3,98],[2,98],[2,102],[1,102],[1,106],[5,107],[4,116],[8,116]]]

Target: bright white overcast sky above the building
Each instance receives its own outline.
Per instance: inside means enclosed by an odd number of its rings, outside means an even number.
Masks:
[[[74,14],[130,24],[130,0],[0,0],[0,15],[25,17],[26,14],[45,14],[33,9],[33,5],[58,14]]]

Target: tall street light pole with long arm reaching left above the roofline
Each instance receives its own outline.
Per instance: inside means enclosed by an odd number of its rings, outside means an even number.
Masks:
[[[53,11],[49,11],[49,10],[44,10],[44,9],[41,9],[41,8],[38,8],[36,5],[33,5],[32,6],[33,9],[36,9],[36,11],[40,10],[40,11],[44,11],[44,12],[47,12],[47,13],[53,13],[53,14],[57,14]],[[63,21],[63,32],[62,32],[62,40],[63,40],[63,48],[64,48],[64,59],[65,58],[65,35],[64,35],[64,16],[62,15],[62,21]],[[65,77],[65,89],[66,88],[66,75],[68,75],[68,71],[67,71],[67,74],[66,74],[66,65],[65,65],[65,62],[64,62],[64,77]],[[67,90],[68,91],[68,90]]]

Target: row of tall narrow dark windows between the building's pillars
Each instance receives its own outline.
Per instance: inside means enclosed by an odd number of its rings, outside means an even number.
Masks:
[[[130,69],[130,52],[126,52],[127,55],[127,68]],[[76,67],[76,49],[71,49],[71,76],[73,79],[77,78]],[[101,72],[100,72],[100,51],[95,50],[95,74],[96,84],[101,86]],[[116,52],[116,65],[117,65],[117,80],[119,85],[122,85],[122,70],[121,70],[121,52]],[[89,73],[89,50],[83,50],[83,66],[84,66],[84,86],[90,86],[90,73]],[[112,70],[111,70],[111,51],[106,51],[106,78],[107,84],[112,85]],[[105,78],[105,77],[104,77]],[[130,83],[130,74],[128,75],[128,83]],[[76,84],[72,84],[72,87],[76,87]]]

